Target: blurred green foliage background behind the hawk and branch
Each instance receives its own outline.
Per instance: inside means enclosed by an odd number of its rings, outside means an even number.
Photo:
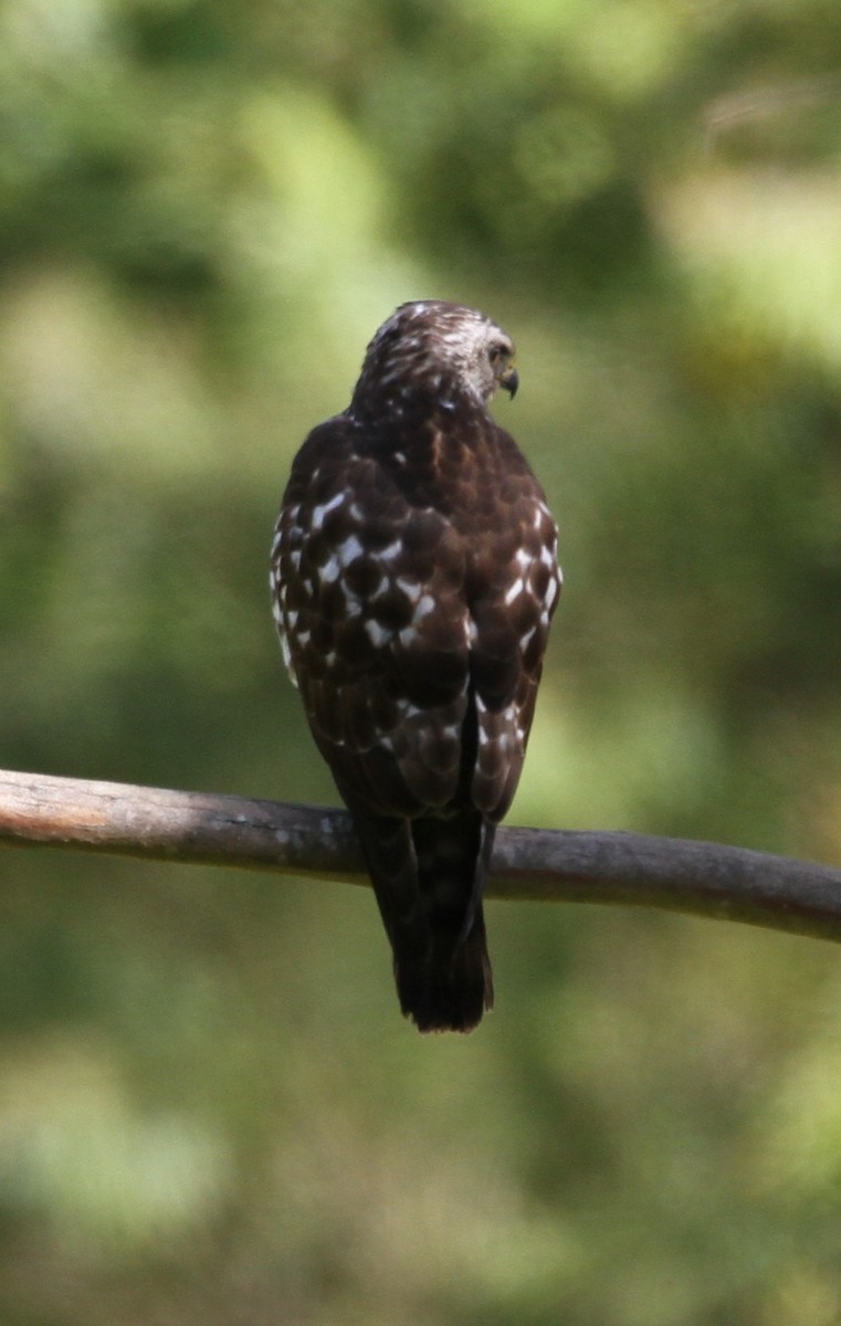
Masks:
[[[0,760],[334,800],[272,635],[398,302],[519,342],[566,590],[512,819],[841,858],[841,8],[5,0]],[[358,890],[0,862],[0,1318],[841,1319],[841,971],[492,904],[402,1022]]]

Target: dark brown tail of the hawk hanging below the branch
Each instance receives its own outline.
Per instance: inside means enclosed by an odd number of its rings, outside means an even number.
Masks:
[[[493,1006],[482,887],[495,826],[354,814],[394,952],[401,1008],[420,1032],[471,1032]]]

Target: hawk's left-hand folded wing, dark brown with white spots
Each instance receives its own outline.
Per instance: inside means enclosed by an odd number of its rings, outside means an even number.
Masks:
[[[338,416],[298,453],[272,566],[289,670],[340,790],[381,814],[450,804],[470,682],[459,534]]]

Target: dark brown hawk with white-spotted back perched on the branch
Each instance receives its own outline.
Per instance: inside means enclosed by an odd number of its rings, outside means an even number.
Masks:
[[[272,549],[287,667],[422,1032],[493,1004],[482,890],[561,585],[544,493],[488,412],[513,354],[474,309],[401,305],[297,453]]]

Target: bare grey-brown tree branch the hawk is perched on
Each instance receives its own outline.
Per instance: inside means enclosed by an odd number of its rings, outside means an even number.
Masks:
[[[366,884],[344,810],[0,770],[0,843]],[[491,898],[659,907],[841,940],[841,870],[720,843],[500,829]]]

